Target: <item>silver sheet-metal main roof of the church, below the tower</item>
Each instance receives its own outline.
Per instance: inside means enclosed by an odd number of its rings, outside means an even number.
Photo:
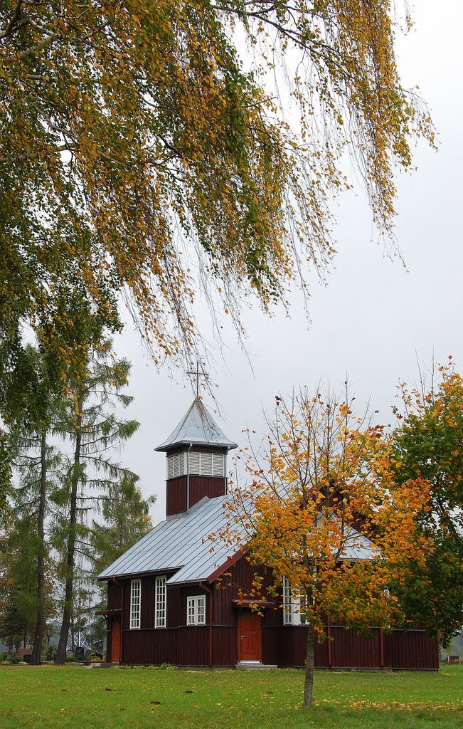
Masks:
[[[167,580],[170,585],[207,580],[245,545],[246,532],[240,525],[234,525],[237,529],[234,545],[209,539],[210,534],[220,534],[231,521],[229,513],[226,496],[205,497],[185,516],[157,524],[103,570],[98,579],[175,570]],[[358,561],[375,556],[377,551],[370,540],[351,529],[341,559]]]

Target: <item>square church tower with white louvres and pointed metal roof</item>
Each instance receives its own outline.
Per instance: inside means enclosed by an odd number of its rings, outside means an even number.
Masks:
[[[204,496],[226,494],[226,454],[237,448],[196,397],[157,451],[167,455],[167,518],[181,515]]]

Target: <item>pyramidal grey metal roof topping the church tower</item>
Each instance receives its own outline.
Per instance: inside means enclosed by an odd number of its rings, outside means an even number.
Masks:
[[[156,451],[170,451],[175,445],[221,445],[223,448],[237,448],[221,431],[199,397],[191,403],[186,415]]]

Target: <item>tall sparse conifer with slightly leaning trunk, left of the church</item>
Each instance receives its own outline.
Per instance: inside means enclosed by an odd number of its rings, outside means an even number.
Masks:
[[[133,420],[119,421],[114,409],[127,408],[132,397],[122,392],[127,384],[130,365],[116,360],[111,344],[102,343],[92,351],[85,378],[71,383],[63,416],[55,434],[71,444],[72,453],[55,500],[63,507],[57,523],[55,540],[62,550],[64,603],[63,623],[57,651],[57,663],[66,659],[68,632],[76,591],[76,555],[84,553],[89,532],[88,515],[95,505],[114,488],[122,477],[132,477],[112,459],[112,452],[138,428]]]

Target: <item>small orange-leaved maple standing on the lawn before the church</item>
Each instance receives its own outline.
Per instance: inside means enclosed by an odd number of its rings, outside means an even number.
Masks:
[[[248,549],[272,573],[272,594],[284,580],[290,589],[283,607],[296,604],[307,630],[304,706],[327,621],[367,634],[371,625],[407,625],[398,587],[430,549],[415,521],[429,508],[427,483],[397,480],[391,437],[355,416],[353,400],[277,397],[264,445],[240,454],[250,483],[232,486],[229,522],[211,535]],[[258,609],[262,588],[257,571],[242,599]]]

